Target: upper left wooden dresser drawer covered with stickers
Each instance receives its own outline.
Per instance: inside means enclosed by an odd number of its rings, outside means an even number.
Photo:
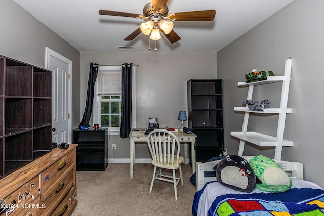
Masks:
[[[16,191],[5,197],[6,207],[11,207],[6,210],[3,215],[28,215],[27,212],[35,213],[38,208],[42,208],[40,203],[40,195],[38,193],[39,180],[35,176],[30,181],[20,186]],[[33,214],[34,215],[34,214]]]

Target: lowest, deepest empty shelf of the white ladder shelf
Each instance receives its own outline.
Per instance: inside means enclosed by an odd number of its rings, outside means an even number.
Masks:
[[[275,147],[278,145],[276,137],[269,136],[266,134],[261,134],[254,131],[231,132],[231,136],[261,147],[266,147],[266,146]],[[293,146],[293,142],[288,140],[282,140],[282,146]]]

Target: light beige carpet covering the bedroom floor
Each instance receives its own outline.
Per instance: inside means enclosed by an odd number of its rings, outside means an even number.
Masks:
[[[191,166],[181,167],[184,185],[181,182],[178,185],[177,201],[172,183],[156,180],[149,193],[151,164],[135,164],[133,178],[128,163],[110,163],[106,171],[77,171],[78,204],[72,216],[192,215],[196,188],[189,179]]]

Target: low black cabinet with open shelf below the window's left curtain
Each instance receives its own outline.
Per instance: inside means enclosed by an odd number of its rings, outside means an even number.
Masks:
[[[73,129],[73,143],[77,143],[76,170],[104,171],[108,166],[106,129]]]

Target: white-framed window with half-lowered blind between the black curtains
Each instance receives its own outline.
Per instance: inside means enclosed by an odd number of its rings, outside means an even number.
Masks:
[[[95,85],[93,123],[119,135],[121,121],[121,66],[99,66]],[[135,127],[135,66],[133,67],[132,127]]]

